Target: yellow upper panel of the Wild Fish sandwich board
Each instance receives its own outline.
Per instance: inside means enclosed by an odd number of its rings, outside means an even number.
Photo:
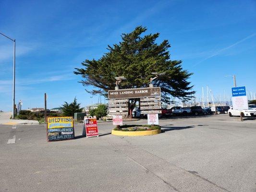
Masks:
[[[73,127],[73,117],[49,117],[47,118],[47,128]]]

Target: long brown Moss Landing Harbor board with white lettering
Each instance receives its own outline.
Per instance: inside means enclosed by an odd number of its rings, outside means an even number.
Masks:
[[[152,97],[161,96],[160,87],[152,88],[137,88],[137,89],[119,89],[110,90],[108,92],[109,99],[127,99],[127,98],[140,98],[140,97]]]

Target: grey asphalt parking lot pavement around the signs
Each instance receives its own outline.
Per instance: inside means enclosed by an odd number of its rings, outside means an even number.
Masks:
[[[165,132],[46,141],[45,125],[0,125],[0,192],[255,192],[256,120],[160,119]],[[146,124],[146,120],[127,122]]]

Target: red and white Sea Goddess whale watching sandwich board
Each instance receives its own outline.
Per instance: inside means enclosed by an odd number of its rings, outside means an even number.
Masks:
[[[96,117],[85,117],[83,135],[86,137],[98,137],[98,124]]]

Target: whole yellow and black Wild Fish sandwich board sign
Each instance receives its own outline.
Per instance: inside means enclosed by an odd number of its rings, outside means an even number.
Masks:
[[[48,142],[73,139],[73,117],[48,117],[46,129]]]

